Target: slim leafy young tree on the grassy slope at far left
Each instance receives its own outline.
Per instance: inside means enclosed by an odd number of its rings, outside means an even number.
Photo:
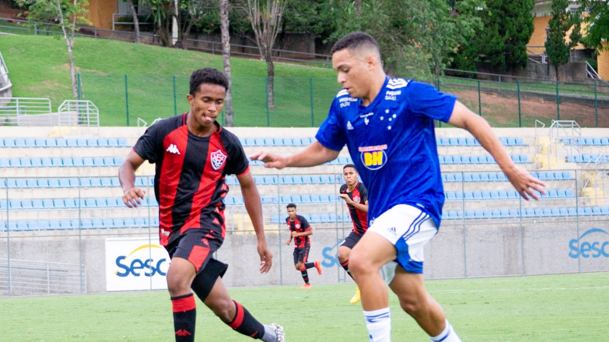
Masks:
[[[74,33],[79,30],[77,24],[90,24],[85,18],[89,4],[87,0],[17,0],[17,4],[27,6],[27,21],[32,25],[57,22],[57,28],[62,31],[63,39],[68,47],[68,63],[72,77],[72,96],[78,97],[76,66],[74,65]]]

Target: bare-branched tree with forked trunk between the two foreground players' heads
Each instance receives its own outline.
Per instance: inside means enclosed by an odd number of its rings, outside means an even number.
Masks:
[[[273,80],[275,66],[273,65],[273,46],[281,29],[281,17],[286,8],[287,0],[247,0],[247,16],[252,23],[256,46],[261,60],[267,64],[267,101],[269,109],[275,108],[273,96]]]

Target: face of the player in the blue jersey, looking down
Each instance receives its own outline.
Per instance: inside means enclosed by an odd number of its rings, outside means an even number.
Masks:
[[[337,81],[353,98],[367,98],[369,92],[370,69],[365,58],[343,49],[332,55],[332,67],[336,70]]]

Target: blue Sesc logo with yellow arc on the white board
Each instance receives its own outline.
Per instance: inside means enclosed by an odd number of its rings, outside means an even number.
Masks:
[[[127,255],[119,255],[116,258],[116,271],[114,275],[119,277],[127,276],[147,276],[152,277],[154,275],[166,276],[167,268],[169,268],[169,262],[167,258],[159,258],[155,260],[150,258],[149,248],[161,248],[160,245],[144,244]]]

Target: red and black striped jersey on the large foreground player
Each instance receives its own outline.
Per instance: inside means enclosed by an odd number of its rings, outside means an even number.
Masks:
[[[236,135],[214,122],[216,132],[199,137],[188,131],[186,115],[158,121],[133,146],[142,159],[156,163],[154,190],[161,245],[166,245],[177,229],[182,233],[189,228],[210,227],[210,234],[224,239],[225,176],[249,171]]]

